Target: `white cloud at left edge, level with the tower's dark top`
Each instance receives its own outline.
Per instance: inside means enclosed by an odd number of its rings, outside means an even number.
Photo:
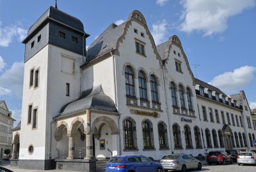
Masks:
[[[0,22],[0,46],[8,47],[13,39],[16,37],[19,41],[22,41],[27,35],[26,29],[20,27],[19,24],[2,26]]]

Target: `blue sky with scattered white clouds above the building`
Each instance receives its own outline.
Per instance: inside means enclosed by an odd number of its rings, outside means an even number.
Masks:
[[[24,45],[29,27],[54,0],[0,0],[0,99],[19,120]],[[194,75],[227,94],[244,90],[256,108],[256,0],[58,0],[59,10],[79,18],[91,36],[139,10],[156,44],[179,36]],[[196,69],[192,64],[198,64]]]

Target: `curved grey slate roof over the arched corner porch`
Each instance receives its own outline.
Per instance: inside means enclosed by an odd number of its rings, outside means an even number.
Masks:
[[[81,96],[61,107],[59,114],[54,119],[69,117],[84,110],[99,110],[118,113],[111,97],[102,90],[101,85],[84,90]]]

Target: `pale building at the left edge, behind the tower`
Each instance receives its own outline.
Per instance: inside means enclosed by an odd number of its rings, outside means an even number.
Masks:
[[[12,111],[8,110],[5,101],[0,100],[0,159],[3,159],[4,150],[12,150]]]

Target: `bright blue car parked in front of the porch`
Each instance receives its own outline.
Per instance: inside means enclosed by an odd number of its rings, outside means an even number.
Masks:
[[[163,166],[143,155],[117,155],[107,163],[106,172],[163,172]]]

